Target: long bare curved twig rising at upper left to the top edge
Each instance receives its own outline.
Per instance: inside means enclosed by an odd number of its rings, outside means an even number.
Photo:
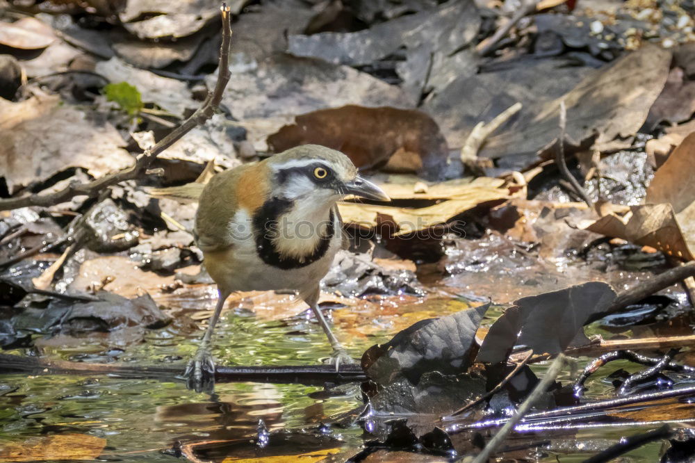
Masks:
[[[186,133],[204,124],[210,119],[222,101],[222,93],[227,87],[231,72],[229,72],[229,50],[231,47],[231,12],[226,4],[222,4],[222,45],[220,46],[220,65],[218,67],[218,81],[213,92],[209,92],[202,106],[186,119],[179,127],[171,131],[167,136],[152,147],[142,152],[137,159],[135,165],[131,168],[126,168],[106,175],[100,179],[90,181],[85,184],[70,184],[63,190],[56,191],[47,195],[28,195],[22,197],[13,197],[6,200],[0,200],[0,211],[8,211],[26,206],[53,206],[66,202],[78,195],[95,196],[104,188],[118,184],[122,181],[132,180],[140,177],[140,175],[149,168],[156,157],[165,151],[168,147],[176,143]]]

